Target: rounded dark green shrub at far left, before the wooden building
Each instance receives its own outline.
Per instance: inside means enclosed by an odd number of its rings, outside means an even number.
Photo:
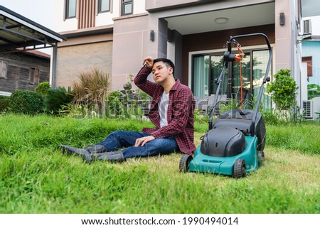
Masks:
[[[43,112],[44,102],[41,94],[28,90],[17,90],[11,94],[9,107],[18,114],[38,114]]]

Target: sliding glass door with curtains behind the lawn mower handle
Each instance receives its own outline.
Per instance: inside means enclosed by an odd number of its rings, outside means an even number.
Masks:
[[[241,69],[239,62],[229,63],[224,80],[221,82],[220,94],[237,99],[241,98],[242,94],[242,99],[255,100],[265,76],[268,58],[268,50],[248,50],[245,52],[245,58],[242,59]],[[223,53],[193,55],[192,63],[194,96],[207,97],[215,94],[218,87],[215,80],[218,79],[223,69]],[[265,92],[261,102],[263,107],[271,108],[270,97]]]

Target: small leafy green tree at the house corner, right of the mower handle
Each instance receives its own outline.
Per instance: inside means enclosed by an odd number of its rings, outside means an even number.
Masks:
[[[272,102],[277,104],[287,119],[287,111],[297,106],[297,84],[291,77],[291,70],[281,69],[274,75],[274,82],[267,85],[267,92],[271,92]]]

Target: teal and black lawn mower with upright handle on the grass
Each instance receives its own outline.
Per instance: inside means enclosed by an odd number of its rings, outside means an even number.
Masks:
[[[218,104],[220,84],[225,77],[225,70],[229,62],[240,61],[241,53],[231,53],[234,44],[240,50],[240,43],[236,38],[262,36],[265,38],[269,50],[269,60],[265,77],[259,89],[257,102],[252,109],[231,109],[218,115],[213,121],[215,107]],[[217,90],[210,110],[208,132],[196,148],[194,156],[183,155],[179,163],[180,172],[215,173],[230,175],[233,178],[245,178],[247,173],[257,170],[265,160],[266,129],[261,114],[258,112],[262,92],[266,82],[270,81],[272,50],[269,39],[263,33],[252,33],[240,36],[230,36],[227,42],[228,50],[223,55],[223,70],[215,80]],[[242,52],[243,54],[243,52]],[[243,54],[244,55],[244,54]],[[241,87],[241,85],[240,85]]]

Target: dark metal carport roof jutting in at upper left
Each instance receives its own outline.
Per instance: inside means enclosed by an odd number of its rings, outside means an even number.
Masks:
[[[50,29],[0,6],[0,53],[52,48],[67,40]]]

